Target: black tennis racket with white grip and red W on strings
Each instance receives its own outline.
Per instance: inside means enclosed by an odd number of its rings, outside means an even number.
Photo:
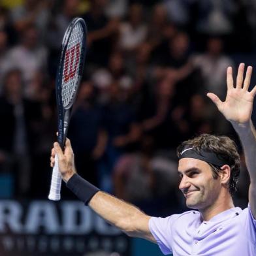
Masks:
[[[82,18],[74,18],[65,32],[61,45],[61,56],[56,75],[57,101],[57,142],[64,150],[67,129],[71,118],[71,110],[78,86],[82,78],[86,55],[86,23]],[[52,181],[48,199],[61,198],[61,173],[59,172],[57,155],[52,170]]]

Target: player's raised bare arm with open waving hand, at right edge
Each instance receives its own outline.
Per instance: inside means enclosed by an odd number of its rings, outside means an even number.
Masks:
[[[246,71],[246,78],[244,78],[244,63],[241,63],[236,77],[236,87],[234,87],[232,68],[229,67],[227,69],[227,97],[225,101],[220,101],[214,93],[208,93],[207,96],[212,99],[225,118],[232,123],[242,142],[251,180],[249,205],[253,217],[256,219],[256,131],[251,121],[256,86],[251,91],[248,90],[251,72],[252,67],[249,66]]]

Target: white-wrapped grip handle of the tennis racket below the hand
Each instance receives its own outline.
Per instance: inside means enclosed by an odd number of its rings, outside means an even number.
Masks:
[[[61,199],[61,173],[59,172],[59,163],[57,154],[55,155],[55,164],[52,169],[52,181],[48,199],[57,201]]]

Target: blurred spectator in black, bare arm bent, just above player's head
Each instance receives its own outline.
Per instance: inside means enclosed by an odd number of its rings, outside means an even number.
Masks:
[[[140,107],[142,128],[146,134],[154,136],[157,148],[175,148],[187,136],[184,120],[176,117],[179,111],[184,111],[176,100],[176,83],[172,78],[164,77],[154,89],[152,97]],[[170,133],[175,136],[168,136]]]

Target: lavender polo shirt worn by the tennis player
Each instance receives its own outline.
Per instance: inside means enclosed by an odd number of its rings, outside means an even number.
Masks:
[[[251,210],[231,208],[210,221],[193,210],[169,217],[151,217],[150,231],[164,254],[174,256],[255,256],[256,220]]]

